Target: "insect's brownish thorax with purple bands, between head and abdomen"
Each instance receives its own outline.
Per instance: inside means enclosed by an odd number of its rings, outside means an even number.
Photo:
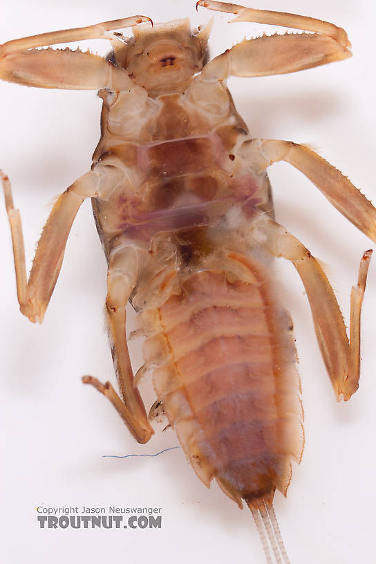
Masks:
[[[267,178],[238,154],[250,138],[246,126],[227,89],[216,88],[212,104],[200,104],[194,88],[156,98],[100,91],[93,164],[123,174],[108,200],[93,203],[102,239],[150,248],[162,233],[187,240],[188,232],[189,247],[207,248],[211,229],[231,229],[224,218],[236,216],[234,207],[252,218],[269,201]]]

